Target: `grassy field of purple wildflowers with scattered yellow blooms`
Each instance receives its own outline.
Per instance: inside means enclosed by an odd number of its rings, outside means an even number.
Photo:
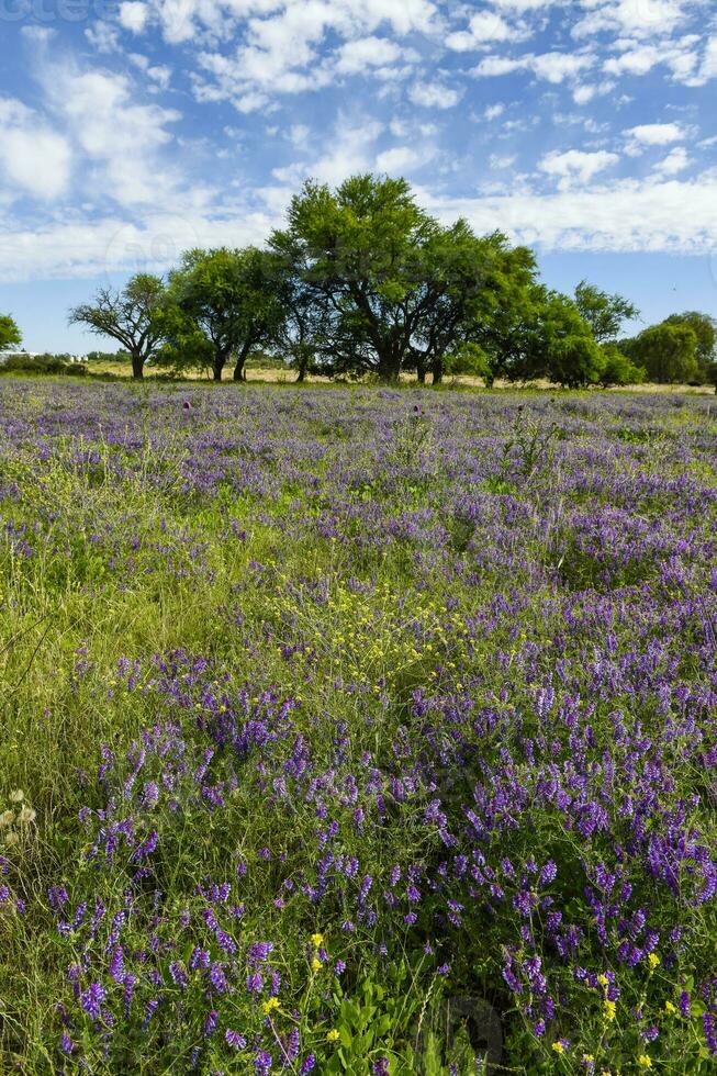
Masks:
[[[713,1072],[716,435],[3,381],[0,1072]]]

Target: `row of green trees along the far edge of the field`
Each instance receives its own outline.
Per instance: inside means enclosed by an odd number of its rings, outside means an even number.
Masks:
[[[338,189],[307,182],[265,248],[190,250],[167,280],[148,273],[101,290],[70,323],[111,337],[133,376],[148,360],[186,370],[272,355],[303,380],[415,371],[547,378],[569,386],[707,378],[715,324],[675,315],[620,340],[638,316],[620,295],[583,281],[570,298],[538,280],[534,253],[501,232],[444,226],[405,180],[355,176]]]

